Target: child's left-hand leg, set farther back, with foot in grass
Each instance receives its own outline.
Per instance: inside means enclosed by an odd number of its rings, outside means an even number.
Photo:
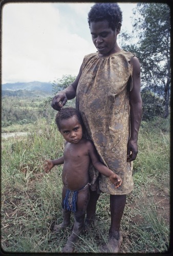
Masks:
[[[66,190],[67,189],[65,187],[62,188],[62,202],[61,202],[61,206],[62,206],[63,222],[54,226],[54,229],[53,229],[54,232],[58,232],[60,229],[66,228],[66,227],[68,227],[70,225],[71,211],[63,209],[63,200],[66,197]]]

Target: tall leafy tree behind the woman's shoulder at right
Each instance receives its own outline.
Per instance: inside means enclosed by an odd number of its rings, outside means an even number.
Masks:
[[[167,4],[139,3],[134,17],[134,34],[139,40],[129,42],[125,49],[135,52],[140,60],[142,92],[147,88],[155,99],[164,99],[166,118],[170,101],[170,8]]]

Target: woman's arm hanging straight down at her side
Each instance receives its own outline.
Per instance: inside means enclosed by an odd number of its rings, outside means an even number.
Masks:
[[[133,58],[133,89],[130,92],[130,117],[131,117],[131,137],[127,144],[127,161],[136,159],[138,154],[138,132],[142,117],[142,99],[141,99],[141,78],[140,63],[137,57]]]

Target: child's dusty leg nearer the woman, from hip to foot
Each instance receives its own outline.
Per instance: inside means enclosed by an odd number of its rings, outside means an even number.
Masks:
[[[78,239],[79,234],[83,230],[85,212],[87,210],[87,205],[90,200],[90,190],[89,187],[83,188],[78,191],[77,197],[77,211],[74,212],[74,227],[71,236],[69,237],[66,245],[64,246],[62,252],[73,252],[74,245]]]

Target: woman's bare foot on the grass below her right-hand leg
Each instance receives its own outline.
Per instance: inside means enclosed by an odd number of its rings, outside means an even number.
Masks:
[[[118,253],[122,243],[122,236],[120,234],[119,239],[113,237],[109,238],[108,243],[104,244],[100,249],[101,252],[114,252]]]

